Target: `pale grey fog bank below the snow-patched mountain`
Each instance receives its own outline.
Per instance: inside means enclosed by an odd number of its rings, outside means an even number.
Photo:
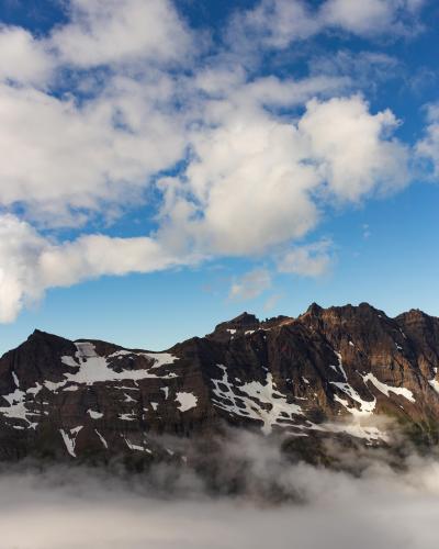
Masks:
[[[436,549],[439,461],[408,457],[395,472],[385,459],[360,475],[288,464],[280,452],[244,440],[247,495],[213,497],[187,472],[157,491],[169,471],[114,477],[55,467],[0,474],[1,549]],[[235,451],[235,450],[234,450]],[[232,452],[233,453],[233,452]],[[228,458],[230,458],[230,453]],[[347,458],[348,459],[348,458]],[[349,456],[349,459],[357,459]],[[224,467],[229,463],[226,461]],[[252,485],[282,486],[295,503],[255,497]],[[260,490],[257,490],[260,492]]]

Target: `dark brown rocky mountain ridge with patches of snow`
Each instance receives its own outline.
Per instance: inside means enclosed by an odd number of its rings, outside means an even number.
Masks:
[[[436,441],[438,368],[439,318],[367,303],[244,313],[165,352],[35,330],[0,359],[0,459],[161,459],[225,425],[380,445],[382,415]]]

